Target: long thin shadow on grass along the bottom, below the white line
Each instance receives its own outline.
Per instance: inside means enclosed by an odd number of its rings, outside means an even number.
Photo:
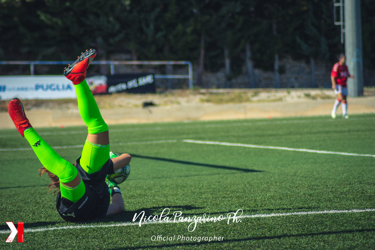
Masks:
[[[375,232],[375,228],[369,229],[354,229],[354,230],[342,230],[342,231],[332,231],[332,232],[318,232],[318,233],[298,233],[298,234],[285,234],[285,235],[275,235],[275,236],[263,236],[263,237],[249,237],[249,238],[241,238],[241,239],[223,239],[221,241],[201,241],[201,242],[192,242],[192,243],[177,243],[177,244],[163,244],[163,245],[147,245],[147,246],[139,246],[139,247],[126,247],[126,248],[110,248],[107,250],[120,250],[120,249],[150,249],[150,248],[167,248],[167,247],[182,247],[182,246],[189,246],[189,247],[203,247],[207,244],[213,243],[228,243],[228,242],[244,242],[244,241],[258,241],[264,239],[283,239],[283,238],[291,238],[291,237],[306,237],[306,236],[319,236],[319,235],[335,235],[340,233],[363,233],[363,232]]]

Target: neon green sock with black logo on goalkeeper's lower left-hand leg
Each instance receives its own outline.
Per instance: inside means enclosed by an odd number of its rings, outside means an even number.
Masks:
[[[71,163],[60,157],[60,155],[36,133],[34,128],[25,130],[24,136],[27,142],[30,143],[31,148],[43,167],[57,175],[60,182],[67,183],[73,181],[77,176],[77,169]]]

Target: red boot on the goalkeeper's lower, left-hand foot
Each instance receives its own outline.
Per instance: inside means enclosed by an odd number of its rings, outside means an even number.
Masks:
[[[13,98],[8,103],[8,114],[10,119],[12,119],[14,125],[18,132],[20,132],[21,136],[25,137],[23,132],[27,128],[32,128],[30,122],[28,121],[22,102],[18,98]]]

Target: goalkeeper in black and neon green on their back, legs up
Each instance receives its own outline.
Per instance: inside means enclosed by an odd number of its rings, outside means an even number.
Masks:
[[[8,113],[18,132],[30,143],[43,165],[39,169],[40,176],[48,173],[52,182],[48,188],[58,189],[56,209],[66,221],[92,220],[124,211],[120,188],[106,176],[129,164],[131,157],[121,154],[110,158],[108,126],[85,79],[87,68],[95,56],[95,50],[86,50],[64,70],[65,77],[74,84],[78,110],[89,131],[81,157],[74,165],[60,157],[36,133],[18,98],[13,98],[8,104]]]

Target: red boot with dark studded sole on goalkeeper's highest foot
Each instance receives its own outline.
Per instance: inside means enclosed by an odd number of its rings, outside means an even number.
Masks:
[[[68,68],[64,70],[65,77],[71,80],[74,85],[81,83],[86,78],[87,68],[89,68],[91,61],[95,58],[96,50],[86,50],[81,54],[74,63],[69,64]]]

